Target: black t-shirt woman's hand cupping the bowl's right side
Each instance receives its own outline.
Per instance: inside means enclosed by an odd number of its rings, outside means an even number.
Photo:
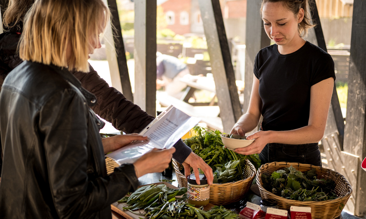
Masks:
[[[270,143],[270,131],[257,131],[250,136],[247,136],[247,140],[255,139],[253,143],[244,148],[236,148],[235,152],[242,155],[252,155],[255,153],[261,153],[263,148]]]

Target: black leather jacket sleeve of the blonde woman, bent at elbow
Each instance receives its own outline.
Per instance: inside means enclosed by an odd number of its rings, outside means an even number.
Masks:
[[[88,107],[74,90],[54,94],[42,107],[39,120],[59,218],[87,218],[136,189],[138,179],[132,164],[120,166],[106,177],[90,174],[88,160],[103,156],[103,148],[101,142],[95,143],[93,150],[87,147]]]

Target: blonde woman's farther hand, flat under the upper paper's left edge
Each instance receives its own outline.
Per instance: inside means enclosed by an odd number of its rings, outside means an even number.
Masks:
[[[146,139],[147,139],[146,136],[140,136],[139,134],[136,133],[116,135],[108,138],[103,138],[102,144],[104,148],[104,154],[116,151],[117,149],[130,144],[132,141],[144,141]]]

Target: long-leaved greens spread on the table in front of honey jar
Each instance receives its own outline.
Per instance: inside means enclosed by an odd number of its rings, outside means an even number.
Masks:
[[[183,196],[182,196],[183,195]],[[176,197],[182,196],[182,197]],[[239,219],[235,212],[225,209],[223,206],[214,206],[209,211],[204,211],[201,207],[186,203],[187,188],[171,189],[166,185],[146,185],[137,189],[130,197],[124,197],[119,203],[128,204],[123,209],[134,211],[144,209],[146,218],[164,218],[164,219]]]

